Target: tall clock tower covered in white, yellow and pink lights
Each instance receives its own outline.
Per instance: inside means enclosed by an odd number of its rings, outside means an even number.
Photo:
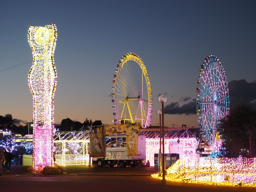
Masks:
[[[53,165],[54,92],[57,72],[54,49],[57,40],[55,24],[30,26],[28,42],[33,52],[33,65],[28,84],[33,95],[33,166]]]

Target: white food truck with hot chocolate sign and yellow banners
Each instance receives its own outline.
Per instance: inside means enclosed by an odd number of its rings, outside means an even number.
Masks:
[[[90,127],[90,149],[93,164],[98,167],[136,166],[145,164],[145,135],[138,134],[134,124]]]

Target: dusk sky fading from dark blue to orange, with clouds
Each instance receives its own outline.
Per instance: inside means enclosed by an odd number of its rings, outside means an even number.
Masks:
[[[32,121],[27,77],[33,56],[27,33],[30,25],[52,23],[58,30],[56,124],[66,118],[113,124],[113,74],[129,52],[143,59],[149,74],[151,125],[159,123],[158,97],[165,94],[165,126],[198,127],[197,76],[208,55],[224,67],[230,105],[242,99],[256,107],[255,7],[256,1],[2,0],[0,115]]]

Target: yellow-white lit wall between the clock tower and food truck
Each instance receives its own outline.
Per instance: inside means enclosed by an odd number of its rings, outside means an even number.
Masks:
[[[89,165],[90,141],[54,141],[55,164]]]

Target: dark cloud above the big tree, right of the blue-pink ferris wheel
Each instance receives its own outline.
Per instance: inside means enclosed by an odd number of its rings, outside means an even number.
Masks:
[[[245,79],[231,80],[227,86],[230,105],[244,102],[251,103],[253,107],[256,107],[256,81],[249,83]]]

